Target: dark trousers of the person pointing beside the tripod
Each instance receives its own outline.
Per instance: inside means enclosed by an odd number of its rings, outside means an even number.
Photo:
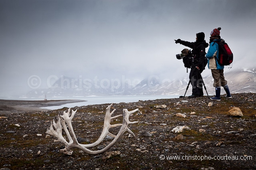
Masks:
[[[201,79],[202,71],[197,70],[197,68],[192,67],[190,70],[190,81],[192,85],[192,95],[204,95],[203,92],[203,80]]]

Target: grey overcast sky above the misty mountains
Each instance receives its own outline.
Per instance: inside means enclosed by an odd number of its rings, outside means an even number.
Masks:
[[[61,76],[182,79],[174,39],[218,27],[232,69],[255,67],[256,0],[0,0],[0,97]]]

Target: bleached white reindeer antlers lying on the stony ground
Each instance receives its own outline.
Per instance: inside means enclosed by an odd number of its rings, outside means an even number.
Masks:
[[[65,144],[66,148],[65,149],[61,149],[60,151],[64,154],[68,154],[71,155],[73,153],[73,151],[71,151],[72,148],[78,148],[81,149],[82,151],[84,151],[87,154],[91,154],[91,155],[96,155],[96,154],[101,154],[104,151],[107,151],[110,147],[112,147],[116,141],[123,135],[123,133],[125,133],[126,131],[128,133],[130,133],[131,135],[133,135],[133,137],[135,137],[134,133],[128,128],[129,124],[134,124],[137,123],[138,121],[133,121],[131,122],[129,120],[129,116],[131,114],[133,114],[134,112],[136,112],[138,109],[132,110],[132,111],[128,111],[127,109],[123,109],[123,123],[119,123],[119,124],[114,124],[111,125],[110,121],[112,119],[116,119],[120,115],[117,116],[111,116],[116,109],[114,109],[112,112],[110,112],[110,108],[113,105],[113,103],[111,105],[109,105],[106,109],[106,115],[105,115],[105,119],[104,119],[104,126],[103,126],[103,130],[102,133],[100,135],[100,137],[98,138],[97,141],[91,143],[91,144],[80,144],[78,143],[77,139],[76,139],[76,135],[74,133],[72,124],[71,124],[71,120],[73,119],[76,111],[72,110],[72,113],[70,114],[70,108],[68,109],[68,112],[63,112],[63,115],[59,114],[57,116],[57,123],[55,123],[55,120],[53,120],[51,122],[50,128],[46,130],[46,133],[48,135],[52,135],[54,137],[57,137],[57,140],[55,140],[55,142],[62,142],[63,144]],[[68,128],[67,128],[68,126]],[[109,129],[110,128],[114,128],[117,126],[121,126],[119,132],[117,135],[113,135],[111,133],[109,133]],[[65,131],[69,142],[67,142],[64,137],[62,136],[62,128]],[[104,140],[104,138],[109,135],[111,137],[115,137],[114,140],[112,140],[112,142],[110,142],[107,147],[105,147],[104,149],[98,150],[98,151],[91,151],[88,148],[91,147],[95,147],[98,144],[100,144],[100,142],[102,142],[102,140]]]

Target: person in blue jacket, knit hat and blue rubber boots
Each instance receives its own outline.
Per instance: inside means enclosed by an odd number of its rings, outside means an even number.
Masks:
[[[227,95],[226,98],[232,98],[229,88],[228,82],[224,77],[224,65],[220,65],[216,58],[219,57],[219,45],[218,42],[223,41],[220,37],[221,28],[215,28],[211,31],[210,35],[210,47],[206,54],[206,58],[208,58],[208,68],[211,69],[211,74],[213,76],[214,82],[213,87],[215,87],[216,95],[211,98],[211,100],[220,101],[220,88],[223,86]]]

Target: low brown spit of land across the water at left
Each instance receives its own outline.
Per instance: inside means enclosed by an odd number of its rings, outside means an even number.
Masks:
[[[46,111],[40,107],[59,106],[85,100],[4,100],[0,99],[0,115],[20,112]]]

